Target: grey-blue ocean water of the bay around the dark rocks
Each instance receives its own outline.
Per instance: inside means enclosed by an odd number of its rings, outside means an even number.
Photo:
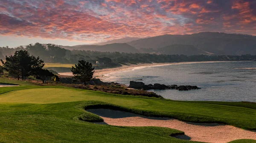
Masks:
[[[256,102],[256,61],[189,63],[139,67],[105,75],[108,82],[129,85],[131,80],[145,84],[192,85],[191,91],[151,90],[172,100]]]

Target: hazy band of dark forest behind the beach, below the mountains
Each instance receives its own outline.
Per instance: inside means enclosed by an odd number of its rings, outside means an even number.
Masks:
[[[172,63],[172,62],[192,62],[192,61],[229,61],[229,60],[256,60],[256,56],[241,55],[206,55],[204,51],[195,49],[193,46],[182,45],[184,49],[194,49],[191,52],[197,52],[201,55],[183,55],[172,54],[179,51],[180,45],[163,48],[162,54],[146,53],[120,53],[120,52],[100,52],[85,50],[67,50],[53,44],[43,45],[40,43],[30,44],[26,47],[20,46],[16,49],[9,47],[0,48],[0,57],[5,60],[4,56],[10,56],[17,50],[27,50],[31,55],[40,57],[47,63],[77,63],[78,60],[85,60],[92,64],[104,65],[103,68],[121,66],[120,64],[137,64],[137,63]],[[169,51],[172,49],[172,51]],[[190,51],[189,51],[190,52]]]

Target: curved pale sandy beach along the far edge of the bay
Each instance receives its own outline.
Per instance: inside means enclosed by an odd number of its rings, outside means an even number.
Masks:
[[[134,71],[136,69],[142,69],[146,67],[154,67],[154,66],[169,66],[169,65],[180,65],[180,64],[194,64],[194,63],[226,63],[226,62],[245,62],[245,61],[201,61],[201,62],[176,62],[176,63],[138,63],[137,65],[122,65],[117,68],[109,68],[109,69],[96,69],[94,70],[93,77],[99,78],[100,80],[107,81],[108,75],[116,72],[126,72],[126,71]],[[72,72],[62,72],[58,73],[61,76],[69,76],[73,77]],[[104,79],[102,79],[104,77]]]

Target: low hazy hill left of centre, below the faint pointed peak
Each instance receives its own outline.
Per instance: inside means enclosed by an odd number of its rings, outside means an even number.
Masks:
[[[85,50],[85,51],[110,51],[110,52],[125,52],[125,53],[138,53],[139,50],[127,43],[113,43],[107,45],[78,45],[78,46],[64,46],[63,48],[69,50]]]

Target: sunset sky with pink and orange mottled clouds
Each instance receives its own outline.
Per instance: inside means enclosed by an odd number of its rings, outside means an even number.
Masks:
[[[256,0],[0,0],[0,46],[203,31],[256,35]]]

